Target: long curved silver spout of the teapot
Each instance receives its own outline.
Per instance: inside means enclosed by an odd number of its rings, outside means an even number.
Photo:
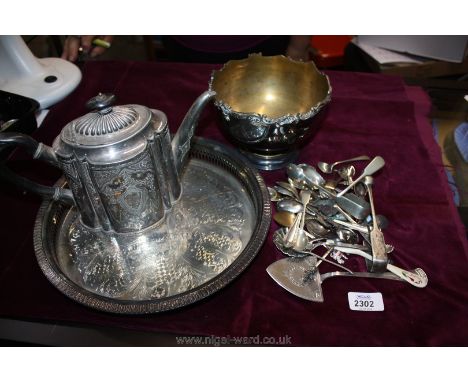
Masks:
[[[190,150],[190,141],[197,127],[200,114],[215,95],[216,92],[207,90],[195,100],[172,140],[172,154],[174,156],[177,175],[180,174],[187,153]]]

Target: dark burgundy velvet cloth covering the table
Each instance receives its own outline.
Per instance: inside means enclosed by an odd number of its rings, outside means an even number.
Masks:
[[[35,136],[51,144],[67,122],[85,113],[85,102],[98,92],[115,93],[119,104],[163,110],[175,131],[191,103],[207,88],[214,68],[88,63],[78,89],[52,108]],[[429,285],[425,289],[385,280],[331,279],[323,284],[324,303],[301,300],[265,271],[283,258],[272,244],[272,233],[278,228],[272,222],[265,245],[247,270],[206,300],[146,316],[103,313],[68,299],[47,281],[32,244],[40,199],[2,184],[0,316],[189,335],[288,335],[293,345],[468,345],[467,242],[444,179],[440,150],[431,136],[427,96],[396,77],[328,74],[332,102],[298,163],[315,165],[319,160],[333,162],[361,154],[383,156],[386,166],[375,177],[375,202],[377,212],[390,220],[385,238],[395,246],[395,265],[426,271]],[[218,126],[210,105],[196,135],[227,144]],[[25,159],[18,155],[14,165],[23,174],[49,184],[60,176],[54,168]],[[284,170],[262,175],[267,185],[285,178]],[[362,267],[357,259],[350,264]],[[349,291],[381,292],[385,310],[350,311]]]

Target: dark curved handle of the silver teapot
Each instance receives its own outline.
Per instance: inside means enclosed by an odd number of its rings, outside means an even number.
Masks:
[[[23,190],[27,190],[42,196],[44,199],[52,199],[74,205],[75,200],[70,190],[60,187],[43,186],[29,179],[23,178],[11,171],[6,165],[6,158],[2,158],[4,151],[11,146],[22,146],[32,154],[34,159],[40,159],[59,167],[57,157],[51,147],[37,142],[29,135],[21,133],[0,133],[0,179],[12,183]]]

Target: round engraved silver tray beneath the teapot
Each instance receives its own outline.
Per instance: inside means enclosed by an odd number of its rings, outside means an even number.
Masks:
[[[229,284],[265,241],[266,186],[236,151],[202,138],[181,179],[183,194],[162,224],[139,234],[87,229],[74,207],[44,201],[34,248],[45,276],[81,304],[128,314],[176,309]]]

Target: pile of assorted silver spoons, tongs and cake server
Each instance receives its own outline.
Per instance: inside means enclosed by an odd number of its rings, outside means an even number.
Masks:
[[[369,161],[353,179],[350,162]],[[288,179],[269,187],[276,202],[273,219],[282,226],[273,235],[276,247],[288,257],[267,268],[283,288],[301,298],[323,302],[321,284],[330,277],[370,277],[406,281],[424,288],[428,279],[421,268],[412,271],[390,262],[393,246],[382,232],[388,225],[374,208],[372,177],[385,166],[382,157],[359,156],[328,164],[289,164]],[[325,179],[327,176],[329,179]],[[353,272],[343,264],[349,256],[365,259],[367,272]],[[319,265],[330,263],[340,270],[320,274]]]

